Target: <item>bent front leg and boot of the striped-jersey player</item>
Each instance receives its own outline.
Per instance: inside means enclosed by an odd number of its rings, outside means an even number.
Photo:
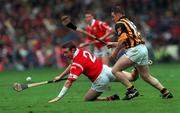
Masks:
[[[134,85],[130,83],[130,81],[126,77],[126,74],[122,71],[123,69],[131,66],[132,64],[133,62],[127,56],[124,55],[118,59],[118,61],[112,68],[112,73],[127,88],[124,100],[129,100],[139,95],[139,92],[134,88]]]

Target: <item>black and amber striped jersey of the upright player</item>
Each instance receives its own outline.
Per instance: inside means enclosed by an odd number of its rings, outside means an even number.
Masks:
[[[125,48],[132,48],[142,43],[136,26],[126,17],[122,17],[115,25],[118,42],[123,42]]]

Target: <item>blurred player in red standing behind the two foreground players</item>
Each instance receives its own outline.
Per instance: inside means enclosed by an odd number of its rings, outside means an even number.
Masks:
[[[100,20],[97,20],[94,18],[93,13],[89,10],[85,11],[85,22],[87,23],[86,26],[86,31],[94,36],[96,36],[97,38],[100,38],[102,40],[104,40],[105,42],[109,42],[110,39],[112,38],[112,32],[113,29],[106,23]],[[94,44],[94,52],[93,54],[102,59],[102,62],[104,64],[109,64],[109,50],[107,49],[107,47],[98,42],[98,41],[94,41],[91,37],[86,36],[86,41],[82,44],[80,44],[80,47],[89,45],[89,44]]]

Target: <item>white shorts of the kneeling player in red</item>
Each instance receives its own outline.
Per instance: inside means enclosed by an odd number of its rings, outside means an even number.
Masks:
[[[109,82],[115,80],[115,76],[111,72],[111,68],[107,65],[103,65],[103,69],[99,75],[99,77],[92,83],[91,89],[97,92],[104,92]]]

